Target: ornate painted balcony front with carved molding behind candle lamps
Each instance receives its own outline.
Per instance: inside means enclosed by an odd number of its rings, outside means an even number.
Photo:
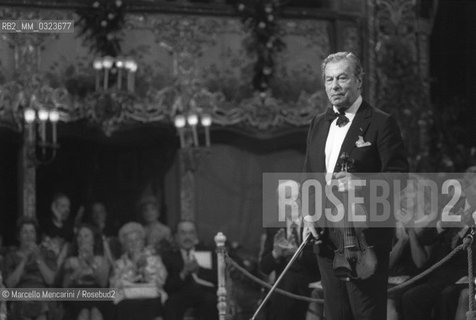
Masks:
[[[15,19],[43,17],[45,12],[78,18],[72,10],[31,9],[25,5],[7,9],[2,7],[5,3],[0,1],[0,10]],[[129,4],[125,5],[129,10]],[[315,10],[326,17],[337,17],[336,12]],[[279,70],[265,99],[250,86],[253,60],[240,45],[246,34],[236,16],[129,13],[123,46],[139,64],[135,94],[94,91],[92,58],[86,54],[87,48],[81,47],[81,39],[4,34],[0,41],[7,41],[18,55],[9,50],[3,54],[15,56],[12,60],[19,68],[0,83],[0,126],[21,130],[20,92],[26,90],[28,94],[41,92],[41,103],[57,107],[61,121],[86,120],[101,127],[106,135],[131,125],[171,124],[178,102],[191,99],[197,102],[197,108],[212,114],[218,128],[253,135],[305,129],[327,106],[319,84],[319,64],[331,51],[331,22],[327,18],[310,19],[311,11],[303,13],[306,19],[280,20],[283,38],[299,46],[290,46],[277,57]],[[346,25],[352,26],[349,19]],[[147,40],[136,39],[138,34],[144,34]],[[347,34],[347,42],[355,43],[355,30],[349,29]],[[234,40],[225,43],[229,35]],[[133,40],[132,45],[127,36]],[[64,54],[55,52],[54,48],[63,42],[78,49],[72,53],[65,47],[68,50]],[[32,65],[36,67],[30,68]],[[41,74],[36,73],[38,65]],[[10,68],[5,71],[8,73]]]

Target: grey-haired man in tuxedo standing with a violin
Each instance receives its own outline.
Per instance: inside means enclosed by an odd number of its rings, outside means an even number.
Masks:
[[[408,162],[395,119],[362,99],[363,69],[359,59],[350,52],[331,54],[322,64],[322,75],[332,107],[311,122],[304,170],[327,173],[338,182],[341,192],[349,190],[354,178],[352,173],[339,170],[338,159],[343,154],[352,159],[353,173],[407,172]],[[327,225],[319,227],[323,234],[317,258],[326,318],[386,319],[392,229],[366,230],[365,240],[373,246],[376,269],[365,279],[343,281],[333,268],[334,250],[339,244],[331,236],[338,230]],[[307,224],[303,238],[309,232],[317,237],[314,225]]]

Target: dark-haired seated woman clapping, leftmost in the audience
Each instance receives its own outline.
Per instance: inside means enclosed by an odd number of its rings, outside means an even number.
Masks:
[[[4,279],[8,288],[46,288],[53,284],[56,256],[38,246],[38,223],[22,217],[18,222],[18,250],[5,257]],[[8,319],[46,320],[48,304],[45,301],[15,301],[11,303]]]

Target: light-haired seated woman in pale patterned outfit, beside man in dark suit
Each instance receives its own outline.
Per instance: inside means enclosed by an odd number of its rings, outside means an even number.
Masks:
[[[163,319],[163,303],[167,295],[163,286],[167,271],[160,256],[145,250],[145,231],[136,222],[129,222],[119,230],[119,240],[125,253],[116,261],[111,287],[122,289],[116,301],[117,319]]]

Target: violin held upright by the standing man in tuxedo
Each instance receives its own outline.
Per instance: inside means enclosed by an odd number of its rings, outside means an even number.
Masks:
[[[353,168],[353,159],[347,153],[339,158],[340,171],[350,172]],[[344,209],[348,210],[348,192],[341,192],[341,201]],[[356,214],[366,214],[362,205],[355,205]],[[373,246],[369,246],[365,239],[363,227],[355,227],[348,219],[348,212],[343,221],[333,224],[334,229],[329,234],[330,240],[336,247],[334,251],[333,270],[341,280],[367,279],[375,273],[377,257]],[[367,215],[368,216],[368,215]]]

